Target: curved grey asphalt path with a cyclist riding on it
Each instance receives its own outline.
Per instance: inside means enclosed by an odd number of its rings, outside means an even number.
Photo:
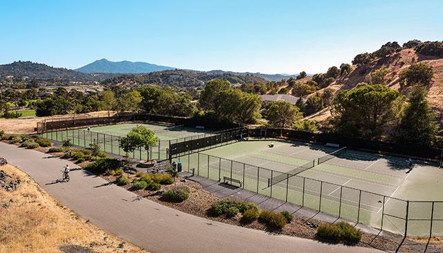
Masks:
[[[75,164],[38,151],[0,142],[0,157],[29,174],[51,196],[111,234],[152,252],[379,252],[271,235],[192,216],[165,207],[107,181],[71,171],[71,181],[53,183],[62,167]]]

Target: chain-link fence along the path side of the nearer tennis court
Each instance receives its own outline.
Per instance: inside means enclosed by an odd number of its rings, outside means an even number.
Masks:
[[[183,170],[283,202],[408,236],[443,236],[443,202],[409,201],[205,153],[173,158]],[[270,178],[280,178],[269,185]],[[241,186],[238,182],[241,182]]]

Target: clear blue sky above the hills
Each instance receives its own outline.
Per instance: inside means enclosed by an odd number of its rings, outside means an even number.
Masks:
[[[0,1],[0,64],[96,59],[324,72],[387,41],[443,40],[443,1]]]

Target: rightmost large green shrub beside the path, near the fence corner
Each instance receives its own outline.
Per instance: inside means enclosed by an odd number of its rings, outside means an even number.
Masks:
[[[361,231],[341,221],[335,224],[321,224],[317,228],[317,236],[325,240],[358,243],[361,240]]]

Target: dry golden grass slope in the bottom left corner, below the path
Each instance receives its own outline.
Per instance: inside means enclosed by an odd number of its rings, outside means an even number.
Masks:
[[[19,169],[11,165],[0,169],[23,181],[17,191],[0,189],[1,253],[63,252],[60,247],[64,245],[82,246],[94,252],[146,252],[58,204]],[[10,207],[1,207],[4,203]]]

